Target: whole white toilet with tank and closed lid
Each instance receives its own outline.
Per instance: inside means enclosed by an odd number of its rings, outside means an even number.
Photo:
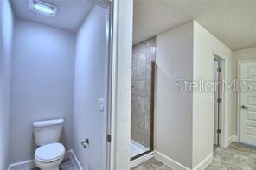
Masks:
[[[59,142],[64,119],[34,122],[35,165],[42,170],[59,170],[65,148]]]

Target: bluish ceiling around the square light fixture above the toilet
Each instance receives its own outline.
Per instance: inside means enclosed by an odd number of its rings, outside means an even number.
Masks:
[[[75,32],[93,9],[88,0],[43,0],[58,7],[56,16],[45,16],[29,9],[29,0],[10,0],[16,17]]]

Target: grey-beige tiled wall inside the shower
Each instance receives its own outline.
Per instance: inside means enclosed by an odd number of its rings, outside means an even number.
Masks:
[[[150,148],[151,61],[156,60],[156,38],[132,47],[131,139]]]

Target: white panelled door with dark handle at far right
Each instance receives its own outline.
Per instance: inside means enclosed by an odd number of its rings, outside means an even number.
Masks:
[[[240,142],[256,145],[256,62],[240,64],[240,90]]]

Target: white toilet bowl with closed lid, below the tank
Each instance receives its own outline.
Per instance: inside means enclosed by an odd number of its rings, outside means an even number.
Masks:
[[[59,170],[64,154],[65,148],[59,142],[43,145],[35,150],[35,165],[42,170]]]

